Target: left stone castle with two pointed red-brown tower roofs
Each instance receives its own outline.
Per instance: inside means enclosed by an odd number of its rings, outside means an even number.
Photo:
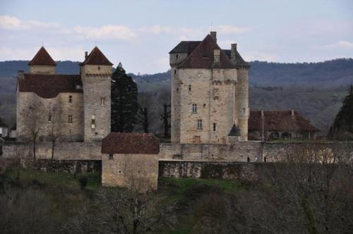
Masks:
[[[100,141],[110,133],[112,63],[95,47],[85,52],[80,75],[56,74],[56,62],[41,47],[18,72],[17,139]]]

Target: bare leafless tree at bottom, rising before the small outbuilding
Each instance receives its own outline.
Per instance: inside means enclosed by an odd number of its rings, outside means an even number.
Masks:
[[[124,183],[128,189],[105,188],[97,193],[93,207],[79,211],[79,215],[65,227],[69,233],[158,233],[170,226],[174,204],[165,204],[165,197],[152,192],[148,171],[138,172],[138,165],[130,156],[124,157]]]

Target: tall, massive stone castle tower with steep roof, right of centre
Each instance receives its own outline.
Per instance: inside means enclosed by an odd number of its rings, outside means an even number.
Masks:
[[[249,63],[237,51],[220,49],[216,32],[203,41],[183,41],[169,52],[172,67],[172,142],[247,140]]]

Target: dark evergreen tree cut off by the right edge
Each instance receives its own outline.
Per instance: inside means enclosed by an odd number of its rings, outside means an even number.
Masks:
[[[349,94],[343,101],[328,135],[330,139],[353,140],[353,85],[350,86]]]

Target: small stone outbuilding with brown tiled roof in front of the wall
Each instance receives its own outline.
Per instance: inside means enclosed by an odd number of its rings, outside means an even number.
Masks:
[[[159,152],[150,133],[110,133],[102,142],[102,185],[157,190]]]

